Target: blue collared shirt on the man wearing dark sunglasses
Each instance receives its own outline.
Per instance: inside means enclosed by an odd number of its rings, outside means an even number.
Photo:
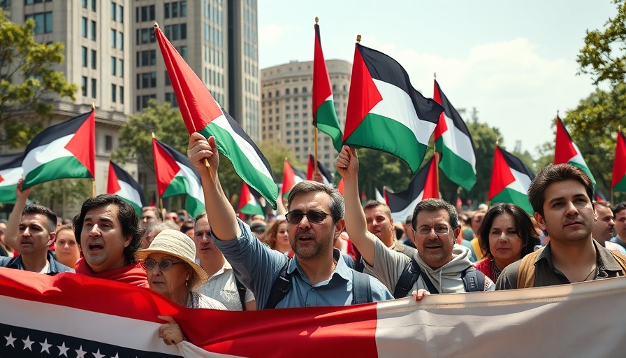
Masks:
[[[286,255],[270,249],[256,238],[250,227],[237,220],[241,236],[231,241],[221,241],[214,236],[217,248],[231,263],[241,282],[252,289],[256,297],[257,307],[265,307],[274,282],[278,278],[284,264],[288,261]],[[314,307],[314,306],[346,306],[352,303],[352,273],[343,259],[340,251],[334,250],[337,265],[328,280],[312,285],[298,266],[298,255],[289,261],[287,273],[291,276],[291,289],[276,308]],[[370,277],[372,302],[393,299],[391,293],[378,280]]]

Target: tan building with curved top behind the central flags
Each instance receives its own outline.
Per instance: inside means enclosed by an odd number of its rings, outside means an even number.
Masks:
[[[343,129],[346,123],[352,65],[340,59],[326,60],[333,85],[335,110]],[[292,61],[261,70],[261,136],[286,144],[300,164],[314,153],[312,125],[313,62]],[[318,159],[332,173],[337,151],[330,136],[318,131]]]

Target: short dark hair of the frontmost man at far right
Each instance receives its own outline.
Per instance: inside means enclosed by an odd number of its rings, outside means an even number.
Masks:
[[[544,216],[544,201],[546,200],[546,188],[555,182],[565,180],[576,180],[585,187],[585,192],[589,200],[593,200],[593,182],[591,178],[572,164],[556,164],[546,166],[541,169],[539,174],[532,180],[528,187],[528,201],[532,210],[539,215]]]

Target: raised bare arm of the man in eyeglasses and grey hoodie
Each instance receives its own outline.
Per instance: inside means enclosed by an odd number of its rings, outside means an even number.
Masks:
[[[358,158],[356,150],[344,145],[337,162],[337,171],[344,178],[344,200],[346,202],[346,229],[350,241],[356,245],[367,264],[374,266],[374,240],[376,236],[367,231],[367,220],[358,196]]]

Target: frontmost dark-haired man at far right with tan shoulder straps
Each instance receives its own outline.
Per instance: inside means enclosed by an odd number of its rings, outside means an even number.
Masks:
[[[625,275],[626,256],[592,238],[593,183],[581,169],[559,164],[541,169],[528,187],[528,201],[539,229],[550,242],[497,279],[497,289],[563,285]]]

